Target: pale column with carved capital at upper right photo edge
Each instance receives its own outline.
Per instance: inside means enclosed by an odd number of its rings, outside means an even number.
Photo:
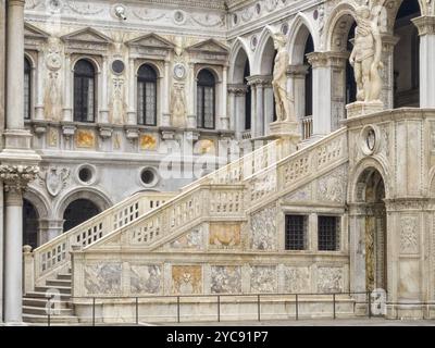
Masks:
[[[420,108],[435,108],[435,16],[412,22],[420,35]]]

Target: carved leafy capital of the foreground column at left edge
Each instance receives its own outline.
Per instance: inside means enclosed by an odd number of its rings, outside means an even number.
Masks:
[[[12,194],[22,194],[29,182],[34,181],[39,172],[37,165],[0,165],[0,178],[4,190]]]

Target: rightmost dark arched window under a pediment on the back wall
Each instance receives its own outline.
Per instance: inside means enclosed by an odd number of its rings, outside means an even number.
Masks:
[[[215,119],[215,79],[208,70],[198,74],[197,114],[199,128],[214,128]]]

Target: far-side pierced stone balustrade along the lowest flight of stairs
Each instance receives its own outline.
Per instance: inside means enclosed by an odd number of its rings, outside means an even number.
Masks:
[[[70,261],[73,246],[85,247],[107,234],[137,220],[146,212],[160,207],[175,194],[137,192],[92,219],[58,236],[34,250],[35,282]]]

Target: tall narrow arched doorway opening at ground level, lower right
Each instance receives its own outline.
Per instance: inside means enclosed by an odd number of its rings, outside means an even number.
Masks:
[[[361,224],[360,245],[365,258],[365,290],[387,290],[387,215],[385,184],[374,167],[365,169],[359,176],[357,198],[365,212]]]

